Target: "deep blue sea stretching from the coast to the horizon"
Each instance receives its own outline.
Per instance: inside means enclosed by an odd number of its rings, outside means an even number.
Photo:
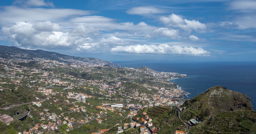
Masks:
[[[171,80],[192,98],[216,85],[244,93],[256,109],[256,62],[115,62],[123,67],[147,66],[159,72],[187,74],[189,78]]]

